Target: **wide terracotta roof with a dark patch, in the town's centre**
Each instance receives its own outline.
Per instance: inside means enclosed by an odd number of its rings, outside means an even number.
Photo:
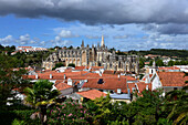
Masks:
[[[98,81],[103,81],[102,84],[98,84]],[[83,87],[88,88],[100,88],[100,90],[113,90],[117,92],[117,88],[121,88],[123,93],[127,93],[127,83],[126,79],[88,79],[84,83]]]

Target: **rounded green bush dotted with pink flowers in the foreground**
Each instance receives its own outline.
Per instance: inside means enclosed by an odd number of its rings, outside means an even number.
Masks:
[[[67,124],[88,124],[91,115],[86,107],[73,100],[66,100],[62,105],[51,108],[48,124],[67,125]]]

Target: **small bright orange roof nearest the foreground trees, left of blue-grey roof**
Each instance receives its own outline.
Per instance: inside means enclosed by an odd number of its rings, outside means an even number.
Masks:
[[[95,100],[96,97],[106,96],[105,93],[97,90],[88,90],[88,91],[76,92],[76,93],[90,100]]]

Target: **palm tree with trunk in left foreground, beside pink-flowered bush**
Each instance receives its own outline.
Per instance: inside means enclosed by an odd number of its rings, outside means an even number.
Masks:
[[[55,97],[59,95],[58,90],[52,90],[53,83],[48,80],[38,81],[32,88],[27,87],[25,103],[40,110],[40,121],[44,125],[46,121],[46,110],[49,105],[55,103]]]

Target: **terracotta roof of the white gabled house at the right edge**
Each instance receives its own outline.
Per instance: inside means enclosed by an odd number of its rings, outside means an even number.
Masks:
[[[182,72],[159,72],[158,75],[163,86],[185,86],[188,81]]]

